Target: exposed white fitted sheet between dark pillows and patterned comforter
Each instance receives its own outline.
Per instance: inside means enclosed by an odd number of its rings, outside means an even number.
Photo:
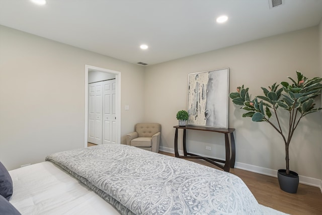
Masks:
[[[10,202],[22,214],[120,214],[111,204],[51,162],[9,171]]]

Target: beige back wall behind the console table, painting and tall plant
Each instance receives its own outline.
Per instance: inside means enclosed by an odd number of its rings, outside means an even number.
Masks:
[[[320,76],[318,27],[273,36],[240,45],[151,65],[145,70],[145,120],[162,124],[164,149],[174,148],[176,113],[187,109],[188,74],[230,68],[229,92],[243,84],[252,98],[262,95],[260,87],[288,81],[300,70],[307,77]],[[319,101],[317,101],[319,104]],[[285,169],[284,142],[268,123],[242,118],[244,113],[229,101],[229,127],[235,128],[236,162],[273,170]],[[287,112],[282,112],[284,115]],[[319,113],[304,118],[290,146],[290,168],[302,176],[321,176],[321,128]],[[287,122],[286,118],[283,119]],[[222,135],[188,132],[188,151],[224,158]],[[211,146],[219,152],[205,151]]]

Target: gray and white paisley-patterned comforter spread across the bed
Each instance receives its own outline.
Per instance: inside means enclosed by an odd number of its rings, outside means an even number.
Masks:
[[[121,214],[263,214],[237,176],[126,145],[47,156]]]

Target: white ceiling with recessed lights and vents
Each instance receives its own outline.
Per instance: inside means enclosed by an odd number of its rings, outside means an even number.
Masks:
[[[0,0],[0,24],[131,63],[155,64],[318,25],[322,0]],[[275,0],[274,0],[275,1]],[[228,16],[224,24],[216,23]],[[141,50],[141,44],[147,50]]]

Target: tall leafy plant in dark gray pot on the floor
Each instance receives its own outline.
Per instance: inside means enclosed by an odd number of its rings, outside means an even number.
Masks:
[[[249,88],[244,85],[237,87],[237,92],[230,93],[229,97],[235,105],[243,106],[241,109],[248,111],[243,117],[251,117],[254,122],[269,123],[283,138],[285,144],[286,169],[278,170],[278,180],[282,190],[296,193],[298,187],[298,174],[289,168],[289,146],[300,120],[307,114],[317,112],[322,108],[314,108],[314,98],[321,94],[322,78],[308,79],[299,71],[296,71],[297,81],[288,77],[292,83],[281,82],[282,87],[273,84],[269,89],[263,88],[264,96],[256,96],[250,99]],[[288,112],[289,123],[285,126],[287,132],[283,133],[277,109]],[[271,117],[275,116],[275,123]]]

